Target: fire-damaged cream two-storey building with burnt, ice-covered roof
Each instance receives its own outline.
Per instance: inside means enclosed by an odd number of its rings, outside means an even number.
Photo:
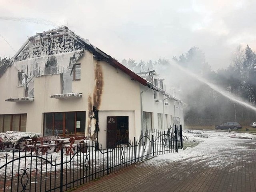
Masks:
[[[0,67],[0,132],[86,135],[105,147],[173,119],[183,124],[182,101],[143,75],[67,27],[37,34]]]

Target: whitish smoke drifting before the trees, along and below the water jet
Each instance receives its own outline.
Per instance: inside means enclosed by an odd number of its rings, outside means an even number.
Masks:
[[[156,65],[154,69],[164,78],[166,91],[186,103],[184,120],[187,125],[213,126],[225,122],[240,122],[249,125],[255,118],[256,108],[211,79],[211,74],[202,77],[194,65],[183,67],[175,61]]]

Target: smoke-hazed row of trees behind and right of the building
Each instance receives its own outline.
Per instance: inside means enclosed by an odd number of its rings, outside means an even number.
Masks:
[[[169,91],[179,90],[178,94],[186,106],[184,120],[187,125],[213,126],[225,122],[240,122],[249,126],[256,121],[256,112],[239,102],[224,97],[217,90],[210,88],[206,82],[189,75],[202,77],[216,85],[220,90],[229,92],[232,97],[239,98],[252,106],[256,106],[256,52],[246,46],[238,46],[230,64],[217,71],[212,70],[206,62],[205,54],[198,47],[192,47],[186,54],[172,60],[159,58],[157,61],[136,62],[134,59],[122,60],[122,64],[134,72],[156,70],[168,83]],[[178,65],[186,71],[175,67]]]

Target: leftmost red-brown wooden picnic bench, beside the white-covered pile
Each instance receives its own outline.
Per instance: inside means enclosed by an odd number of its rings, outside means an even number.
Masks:
[[[31,142],[33,144],[27,145],[27,151],[34,151],[34,152],[42,152],[45,154],[49,148],[51,147],[56,147],[58,146],[56,143],[52,144],[51,142],[59,139],[59,136],[45,136],[45,137],[37,137],[37,138],[32,138]],[[40,151],[37,151],[40,149]]]

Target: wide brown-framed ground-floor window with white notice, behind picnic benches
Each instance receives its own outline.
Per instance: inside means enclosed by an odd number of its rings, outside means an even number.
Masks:
[[[85,134],[85,111],[44,114],[44,136]]]

